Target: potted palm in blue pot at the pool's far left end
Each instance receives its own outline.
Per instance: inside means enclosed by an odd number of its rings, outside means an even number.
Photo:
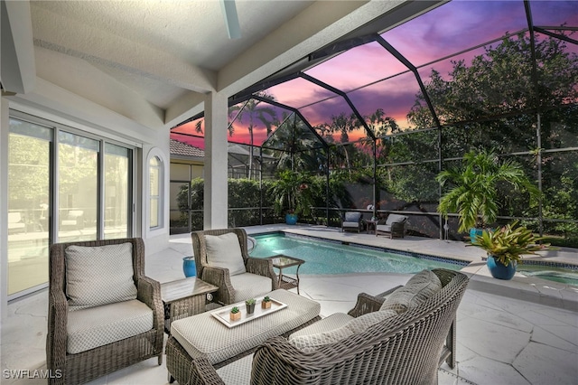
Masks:
[[[313,204],[309,178],[293,170],[283,170],[277,174],[273,186],[275,215],[285,212],[285,222],[295,224],[299,215],[311,214]]]

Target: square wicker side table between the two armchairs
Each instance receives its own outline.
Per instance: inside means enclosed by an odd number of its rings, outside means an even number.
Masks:
[[[219,286],[210,285],[197,277],[161,284],[165,333],[171,333],[172,321],[203,313],[210,294],[218,290]]]

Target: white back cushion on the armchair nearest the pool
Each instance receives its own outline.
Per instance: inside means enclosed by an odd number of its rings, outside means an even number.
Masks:
[[[228,268],[230,276],[245,273],[245,261],[241,254],[238,236],[234,232],[223,235],[205,235],[207,262],[216,268]],[[271,291],[269,289],[269,291]]]

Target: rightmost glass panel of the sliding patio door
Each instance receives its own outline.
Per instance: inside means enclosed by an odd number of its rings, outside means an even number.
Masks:
[[[104,239],[129,236],[130,164],[128,148],[105,145]]]

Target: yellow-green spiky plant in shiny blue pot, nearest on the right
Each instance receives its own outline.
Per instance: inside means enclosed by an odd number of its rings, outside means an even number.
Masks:
[[[478,246],[486,250],[487,265],[492,277],[511,279],[523,255],[536,255],[536,251],[551,249],[550,244],[538,244],[544,239],[536,237],[532,230],[514,221],[498,230],[483,230],[468,246]]]

